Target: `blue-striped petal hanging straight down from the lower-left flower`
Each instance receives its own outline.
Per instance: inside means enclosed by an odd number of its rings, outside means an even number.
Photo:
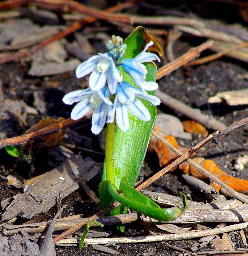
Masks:
[[[107,117],[107,105],[103,102],[101,105],[94,108],[92,114],[91,131],[98,134],[103,129]]]

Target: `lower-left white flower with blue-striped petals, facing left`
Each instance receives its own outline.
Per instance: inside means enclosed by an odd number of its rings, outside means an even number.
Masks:
[[[74,102],[78,102],[72,112],[71,119],[78,120],[86,115],[91,109],[94,108],[92,114],[92,126],[91,131],[94,134],[100,133],[106,122],[107,109],[111,108],[113,103],[109,99],[110,92],[106,86],[98,91],[91,89],[77,90],[67,93],[63,97],[63,102],[67,105],[71,105]]]

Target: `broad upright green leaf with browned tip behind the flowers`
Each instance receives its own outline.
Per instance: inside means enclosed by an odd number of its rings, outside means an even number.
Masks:
[[[144,29],[138,27],[124,40],[127,44],[125,58],[134,58],[137,56],[149,42],[150,38],[145,38]],[[146,81],[156,81],[156,66],[154,63],[145,63],[147,69]],[[123,80],[127,81],[133,86],[130,75],[121,70]],[[155,95],[155,91],[148,92]],[[125,176],[130,186],[134,186],[140,167],[145,158],[145,153],[151,136],[152,127],[156,119],[156,106],[151,105],[148,101],[142,100],[151,114],[151,120],[148,122],[142,121],[129,113],[130,129],[127,132],[121,131],[118,126],[115,128],[114,135],[114,171],[115,171],[115,185],[118,188],[122,178]],[[105,165],[103,168],[102,180],[106,180]]]

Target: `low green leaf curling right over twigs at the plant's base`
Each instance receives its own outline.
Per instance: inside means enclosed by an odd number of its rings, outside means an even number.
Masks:
[[[162,209],[159,205],[152,201],[152,199],[144,196],[137,190],[133,189],[127,184],[127,180],[124,177],[119,191],[114,184],[108,183],[108,190],[111,196],[120,202],[122,205],[137,211],[138,213],[143,213],[149,217],[157,219],[159,221],[171,221],[179,217],[184,211],[188,209],[188,200],[186,196],[177,192],[177,195],[181,198],[182,207]],[[122,193],[122,194],[120,194]]]

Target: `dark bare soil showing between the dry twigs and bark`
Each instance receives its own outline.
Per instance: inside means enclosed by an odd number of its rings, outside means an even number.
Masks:
[[[180,1],[178,1],[180,2]],[[204,12],[203,12],[203,7]],[[218,15],[220,11],[213,12],[211,5],[200,6],[185,6],[183,11],[198,11],[198,15],[208,15],[212,18],[220,18]],[[176,10],[176,7],[174,7]],[[238,21],[241,22],[237,8],[231,8],[228,6],[228,14],[225,13],[221,16],[222,19],[227,22],[230,17],[238,17]],[[100,26],[106,25],[105,23],[98,24]],[[113,28],[114,29],[114,28]],[[108,31],[111,35],[112,31]],[[203,39],[202,39],[203,42]],[[94,45],[95,43],[95,45]],[[96,46],[99,42],[92,41],[93,46]],[[181,53],[186,52],[190,47],[200,44],[201,40],[197,39],[197,42],[188,37],[182,37],[174,45],[174,52],[178,57]],[[206,51],[203,55],[209,54]],[[51,116],[53,118],[70,116],[71,107],[62,103],[62,97],[69,91],[80,89],[81,81],[76,79],[74,72],[67,72],[65,74],[51,75],[46,77],[32,77],[27,75],[29,69],[29,63],[9,63],[0,66],[0,81],[2,82],[2,94],[4,99],[11,99],[13,101],[23,100],[27,105],[32,106],[38,110],[38,114],[28,114],[24,123],[20,121],[13,114],[6,114],[7,117],[2,117],[0,123],[0,131],[5,133],[7,137],[13,137],[21,135],[26,129],[36,124],[42,118]],[[226,90],[239,90],[248,87],[247,76],[247,64],[239,61],[235,61],[231,58],[221,58],[219,60],[195,67],[181,68],[172,74],[159,80],[160,90],[167,94],[181,100],[182,102],[199,108],[205,114],[211,114],[216,119],[222,121],[224,124],[229,125],[234,121],[247,117],[248,107],[247,105],[228,106],[225,103],[214,104],[209,106],[207,100],[209,97],[215,95],[217,92]],[[35,104],[34,92],[39,93],[39,99],[45,106],[45,112],[40,112],[40,108]],[[159,106],[158,112],[166,112],[178,116],[181,120],[187,120],[187,117],[181,116],[180,113],[174,112],[173,109],[169,109],[166,106]],[[102,137],[94,136],[90,132],[91,121],[86,120],[74,127],[71,127],[70,131],[64,138],[63,143],[70,143],[75,145],[74,153],[80,153],[82,157],[90,157],[97,163],[103,163],[104,156],[95,154],[88,151],[83,151],[77,147],[82,147],[94,151],[103,153],[103,149],[100,147]],[[225,172],[230,175],[248,180],[248,166],[245,166],[243,171],[235,171],[233,169],[234,160],[238,157],[247,154],[247,133],[248,127],[243,126],[232,131],[229,135],[225,136],[218,145],[213,142],[206,144],[199,155],[212,159],[215,163]],[[212,132],[211,130],[209,132]],[[178,142],[183,147],[192,147],[199,142],[199,138],[195,136],[192,141],[180,140]],[[52,170],[58,166],[63,159],[61,159],[57,149],[53,151],[42,151],[39,154],[32,155],[31,161],[19,161],[14,168],[13,175],[17,177],[21,182],[40,175],[46,171]],[[12,201],[13,196],[22,193],[21,188],[15,188],[8,186],[7,181],[4,179],[7,175],[13,172],[13,158],[9,156],[4,149],[0,154],[0,174],[2,175],[0,180],[0,201],[2,212]],[[145,179],[160,170],[157,156],[154,154],[148,154],[145,158],[144,165],[141,169],[140,175]],[[98,186],[101,181],[101,174],[96,176],[90,182],[87,182],[90,189],[96,194]],[[179,170],[173,173],[168,173],[159,178],[152,185],[147,187],[147,190],[168,193],[175,195],[176,191],[182,191],[188,199],[206,202],[204,195],[199,195],[191,190],[185,181],[181,178],[181,172]],[[3,203],[5,202],[5,204]],[[92,203],[85,192],[79,188],[71,195],[62,200],[61,205],[67,205],[62,212],[62,217],[72,214],[83,213],[84,216],[89,216],[96,211],[98,205]],[[43,219],[51,220],[52,216],[56,213],[56,207],[50,209],[43,215]],[[15,224],[21,224],[23,220],[19,217]],[[204,223],[203,223],[204,224]],[[149,230],[142,226],[140,223],[131,223],[126,225],[126,232],[121,233],[113,227],[104,227],[104,230],[111,230],[112,237],[128,237],[128,236],[145,236],[149,235]],[[160,231],[157,230],[157,233]],[[160,233],[163,233],[161,231]],[[235,249],[247,248],[242,243],[239,233],[229,233]],[[1,235],[0,235],[1,237]],[[8,238],[9,239],[9,238]],[[169,241],[168,244],[176,245],[179,248],[191,251],[192,244],[195,243],[194,239],[184,241]],[[40,245],[40,240],[37,242]],[[152,255],[177,255],[179,252],[169,249],[165,243],[144,243],[144,244],[116,244],[112,247],[120,255],[137,255],[137,256],[152,256]],[[206,245],[200,251],[211,251],[211,246]],[[82,251],[79,251],[76,247],[56,247],[57,256],[74,256],[74,255],[105,255],[105,253],[98,252],[92,249],[91,246],[83,247]]]

